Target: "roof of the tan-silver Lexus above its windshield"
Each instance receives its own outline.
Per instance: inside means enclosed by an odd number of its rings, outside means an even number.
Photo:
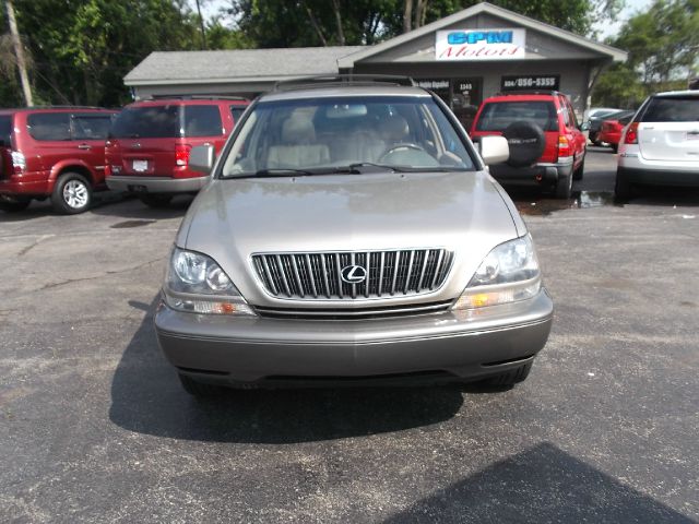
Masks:
[[[339,85],[339,84],[318,84],[318,85],[299,85],[298,87],[272,91],[260,96],[260,102],[277,102],[277,100],[298,100],[308,98],[334,98],[343,96],[406,96],[406,97],[431,97],[431,94],[422,87],[410,85],[391,85],[376,83],[369,85],[363,83],[360,85]]]

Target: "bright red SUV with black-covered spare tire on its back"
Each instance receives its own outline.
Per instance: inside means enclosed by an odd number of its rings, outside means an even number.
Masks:
[[[507,164],[490,166],[503,183],[553,187],[569,199],[572,180],[584,169],[587,139],[568,97],[558,92],[517,92],[487,98],[478,109],[471,138],[500,134],[510,145]]]

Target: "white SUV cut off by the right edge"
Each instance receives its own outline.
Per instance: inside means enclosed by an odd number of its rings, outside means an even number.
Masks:
[[[699,187],[699,92],[650,96],[624,130],[617,163],[619,200],[639,184]]]

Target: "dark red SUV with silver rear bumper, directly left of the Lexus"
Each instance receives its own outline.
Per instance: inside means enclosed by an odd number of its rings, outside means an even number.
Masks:
[[[146,205],[167,205],[208,181],[189,168],[192,147],[220,152],[249,102],[190,96],[135,102],[123,108],[106,144],[107,186],[137,194]]]

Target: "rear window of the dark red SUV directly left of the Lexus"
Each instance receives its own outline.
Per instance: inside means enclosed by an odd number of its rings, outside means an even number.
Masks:
[[[174,139],[182,135],[180,106],[125,108],[114,122],[115,139]]]

